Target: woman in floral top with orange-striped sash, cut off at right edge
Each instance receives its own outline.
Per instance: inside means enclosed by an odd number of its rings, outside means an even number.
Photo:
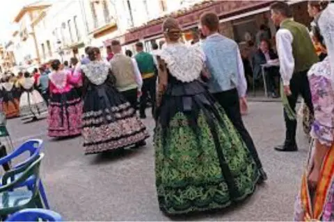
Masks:
[[[328,56],[308,72],[315,121],[308,165],[296,200],[296,221],[334,221],[334,4],[321,12],[315,37]]]

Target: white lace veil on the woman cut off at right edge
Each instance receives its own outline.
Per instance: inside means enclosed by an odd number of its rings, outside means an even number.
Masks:
[[[334,89],[334,3],[330,3],[327,8],[321,12],[318,20],[319,29],[321,35],[324,37],[324,42],[327,49],[327,62],[319,62],[319,66],[326,65],[319,75],[326,74],[324,69],[327,69],[329,73],[326,75],[331,79],[332,87]],[[317,65],[315,65],[317,66]]]

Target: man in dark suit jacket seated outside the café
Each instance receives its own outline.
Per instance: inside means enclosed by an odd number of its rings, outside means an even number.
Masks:
[[[254,57],[253,57],[253,71],[255,78],[260,78],[262,75],[261,65],[266,64],[269,60],[278,59],[277,54],[270,48],[270,44],[267,40],[262,40],[260,43],[259,49],[257,49]],[[280,71],[278,67],[266,67],[264,71],[266,74],[266,83],[271,94],[271,97],[277,98],[278,94],[276,89],[278,89],[278,85],[276,84],[276,76],[280,76]]]

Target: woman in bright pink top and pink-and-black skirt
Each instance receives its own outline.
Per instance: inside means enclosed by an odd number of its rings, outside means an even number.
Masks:
[[[81,134],[82,101],[74,89],[79,77],[61,69],[54,60],[49,74],[49,137],[68,137]]]

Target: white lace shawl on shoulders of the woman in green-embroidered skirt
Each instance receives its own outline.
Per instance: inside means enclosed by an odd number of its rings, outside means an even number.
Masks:
[[[200,77],[205,61],[202,49],[182,43],[168,44],[161,50],[160,56],[166,62],[170,74],[184,83]]]

